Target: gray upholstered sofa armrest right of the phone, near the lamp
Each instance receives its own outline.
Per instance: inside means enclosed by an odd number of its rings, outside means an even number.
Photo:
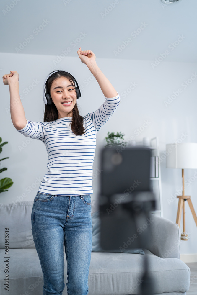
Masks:
[[[180,259],[178,224],[166,218],[151,214],[150,243],[147,250],[161,258]]]

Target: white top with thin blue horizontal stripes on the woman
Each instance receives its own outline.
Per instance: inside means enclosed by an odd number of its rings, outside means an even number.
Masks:
[[[17,130],[26,137],[40,139],[48,153],[48,171],[38,192],[54,195],[93,194],[92,165],[96,148],[96,133],[111,117],[120,103],[119,94],[105,97],[95,111],[83,116],[85,133],[75,135],[71,130],[72,117],[50,122],[27,120],[24,128]]]

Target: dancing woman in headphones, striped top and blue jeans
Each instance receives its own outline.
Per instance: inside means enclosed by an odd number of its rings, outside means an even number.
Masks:
[[[81,47],[77,53],[105,96],[103,104],[84,117],[79,115],[80,91],[71,74],[52,72],[47,79],[43,96],[44,122],[25,118],[17,71],[3,76],[4,84],[9,85],[10,105],[14,106],[10,108],[14,127],[23,135],[44,142],[48,153],[48,172],[35,196],[31,215],[33,239],[43,272],[44,295],[62,295],[64,290],[64,245],[68,294],[88,294],[92,250],[90,194],[93,194],[96,133],[120,102],[117,91],[98,68],[94,53],[82,51]],[[49,104],[46,104],[47,100]]]

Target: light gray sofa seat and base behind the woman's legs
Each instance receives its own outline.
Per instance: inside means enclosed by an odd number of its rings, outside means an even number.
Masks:
[[[144,252],[148,256],[149,271],[156,288],[155,293],[158,295],[185,294],[184,292],[189,289],[189,267],[178,258],[160,258],[148,250]],[[42,294],[43,276],[36,249],[10,249],[9,257],[9,292],[4,291],[5,273],[1,271],[0,290],[3,290],[1,295]],[[4,250],[0,249],[1,269],[5,267],[4,260]],[[67,295],[65,250],[64,262],[63,295]],[[88,275],[89,294],[141,294],[143,273],[144,255],[92,252]]]

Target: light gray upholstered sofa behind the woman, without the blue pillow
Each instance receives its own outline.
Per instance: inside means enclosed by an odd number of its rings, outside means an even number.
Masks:
[[[42,295],[43,275],[31,231],[33,201],[0,204],[0,294]],[[95,213],[95,212],[94,212]],[[95,214],[92,214],[92,220]],[[189,289],[190,269],[180,260],[179,228],[170,220],[153,215],[148,255],[155,294],[185,295]],[[93,224],[96,224],[93,222]],[[5,250],[5,228],[9,228],[9,255]],[[7,235],[7,232],[6,232]],[[94,237],[92,236],[92,239]],[[7,245],[7,243],[6,243]],[[6,247],[7,248],[7,247]],[[65,259],[65,289],[67,265]],[[89,268],[89,295],[140,294],[144,255],[92,252]],[[9,273],[5,272],[5,269]],[[9,276],[6,276],[9,275]],[[6,291],[8,278],[9,291]],[[5,284],[5,285],[4,285]]]

